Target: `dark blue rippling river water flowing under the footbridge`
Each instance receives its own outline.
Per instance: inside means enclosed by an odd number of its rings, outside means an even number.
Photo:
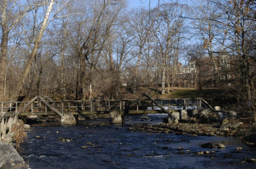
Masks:
[[[141,122],[138,117],[126,124]],[[127,118],[126,118],[127,119]],[[32,125],[28,140],[21,144],[20,153],[30,168],[256,168],[243,163],[256,158],[256,150],[235,137],[206,137],[126,131],[129,126],[100,126],[108,120],[86,120],[79,125],[60,126],[58,123]],[[90,125],[89,125],[90,124]],[[85,127],[86,126],[86,127]],[[47,133],[50,131],[50,133]],[[56,133],[58,131],[58,133]],[[36,136],[40,136],[37,138]],[[44,138],[45,137],[45,138]],[[58,139],[63,137],[65,141]],[[71,141],[66,141],[67,139]],[[94,145],[86,144],[91,142]],[[222,143],[226,148],[202,148],[203,143]],[[88,146],[82,149],[82,146]],[[165,147],[165,149],[163,149]],[[183,151],[177,148],[182,147]],[[236,147],[243,150],[237,151]],[[166,149],[168,148],[168,149]],[[190,151],[186,151],[190,150]],[[212,151],[198,155],[199,151]],[[242,164],[239,164],[242,162]]]

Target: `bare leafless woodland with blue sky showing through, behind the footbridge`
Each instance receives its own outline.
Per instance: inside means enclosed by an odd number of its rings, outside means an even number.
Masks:
[[[255,112],[255,3],[0,0],[0,100],[217,87]]]

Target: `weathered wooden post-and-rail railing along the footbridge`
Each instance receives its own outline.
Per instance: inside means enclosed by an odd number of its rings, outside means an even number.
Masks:
[[[212,107],[203,98],[185,98],[185,99],[155,99],[155,101],[164,106],[169,112],[177,111],[173,107],[179,106],[179,109],[211,109]],[[106,114],[109,112],[122,112],[126,106],[134,100],[62,100],[47,101],[54,109],[62,114]],[[7,114],[17,113],[22,110],[29,102],[0,102],[1,112]],[[151,110],[152,113],[158,111],[155,103],[148,98],[139,100],[131,107],[129,112],[136,114],[145,110]],[[161,111],[161,110],[159,110]],[[54,115],[45,102],[35,100],[20,112],[20,115]]]

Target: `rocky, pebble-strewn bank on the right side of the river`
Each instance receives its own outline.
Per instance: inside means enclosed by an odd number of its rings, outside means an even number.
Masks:
[[[180,121],[167,117],[164,119],[164,123],[160,123],[159,125],[130,125],[127,130],[140,130],[143,132],[164,134],[176,133],[193,136],[243,137],[244,143],[256,146],[255,125],[248,123],[248,118],[245,118],[243,114],[235,116],[234,112],[225,116],[223,113],[220,114],[219,112],[210,113],[208,115],[196,113],[193,117],[181,119]]]

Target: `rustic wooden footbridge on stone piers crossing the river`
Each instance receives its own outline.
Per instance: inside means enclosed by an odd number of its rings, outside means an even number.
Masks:
[[[148,94],[142,94],[136,100],[61,100],[54,101],[48,96],[35,96],[29,102],[0,102],[1,114],[1,133],[4,133],[6,127],[12,129],[18,116],[31,115],[59,115],[62,124],[72,124],[76,122],[74,115],[94,115],[110,114],[113,115],[113,123],[124,123],[125,115],[149,114],[149,113],[167,113],[172,116],[172,106],[180,106],[182,109],[188,109],[189,106],[196,106],[196,109],[202,108],[213,110],[203,98],[187,99],[153,99]],[[157,109],[156,109],[157,108]]]

